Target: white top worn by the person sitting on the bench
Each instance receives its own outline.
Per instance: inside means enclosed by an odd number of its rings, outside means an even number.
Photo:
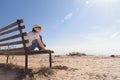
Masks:
[[[29,43],[26,44],[27,47],[32,45],[33,40],[39,39],[39,33],[36,32],[29,32],[27,33],[27,36],[24,37],[25,40],[29,40]]]

